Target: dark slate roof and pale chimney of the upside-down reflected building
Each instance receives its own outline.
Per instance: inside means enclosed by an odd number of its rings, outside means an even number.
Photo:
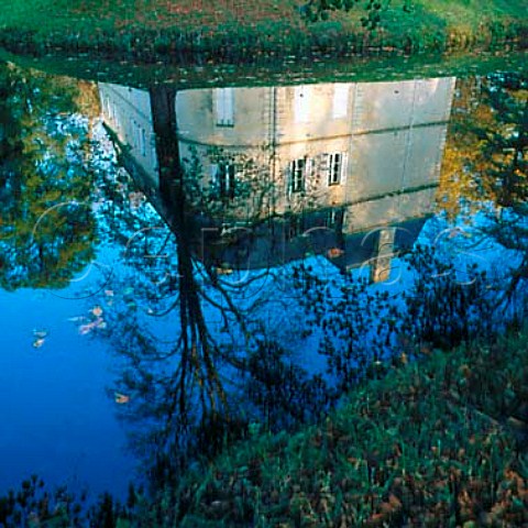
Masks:
[[[237,227],[222,238],[219,231],[206,231],[198,255],[218,267],[253,270],[322,254],[341,270],[367,265],[372,280],[381,282],[388,278],[393,257],[413,248],[426,221],[426,217],[415,218],[346,233],[339,226],[328,227],[327,212],[283,217],[253,228]]]

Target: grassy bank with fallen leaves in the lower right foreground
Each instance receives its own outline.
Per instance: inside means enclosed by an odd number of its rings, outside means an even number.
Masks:
[[[324,424],[234,446],[150,515],[189,527],[528,526],[528,336],[404,356]]]

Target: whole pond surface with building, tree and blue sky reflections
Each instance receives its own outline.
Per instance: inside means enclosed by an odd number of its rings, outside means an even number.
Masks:
[[[123,497],[138,460],[221,444],[221,416],[310,420],[391,358],[524,317],[527,84],[2,65],[0,493]]]

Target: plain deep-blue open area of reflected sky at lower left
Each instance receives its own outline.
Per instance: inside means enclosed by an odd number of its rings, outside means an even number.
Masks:
[[[37,474],[48,484],[123,496],[133,463],[106,393],[108,345],[68,321],[89,316],[90,298],[54,294],[0,292],[0,494]],[[41,348],[34,330],[48,332]]]

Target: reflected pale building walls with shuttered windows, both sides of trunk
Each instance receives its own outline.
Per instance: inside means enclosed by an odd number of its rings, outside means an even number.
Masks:
[[[180,157],[198,163],[200,193],[239,228],[272,212],[290,248],[316,227],[339,230],[345,249],[353,233],[431,211],[453,88],[442,78],[180,91]],[[157,185],[147,92],[100,94],[108,124]],[[377,253],[397,244],[394,230],[378,233]]]

